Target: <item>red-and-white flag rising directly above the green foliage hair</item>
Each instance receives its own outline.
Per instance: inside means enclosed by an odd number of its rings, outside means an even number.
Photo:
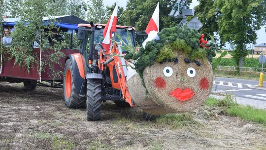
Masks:
[[[152,18],[150,19],[148,26],[145,30],[146,34],[148,34],[148,38],[146,38],[142,46],[145,47],[146,43],[148,41],[151,41],[153,39],[159,40],[159,36],[157,35],[159,32],[159,2],[152,14]]]

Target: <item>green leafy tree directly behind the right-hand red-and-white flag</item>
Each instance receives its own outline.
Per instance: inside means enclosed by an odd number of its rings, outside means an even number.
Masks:
[[[125,25],[134,26],[136,30],[145,30],[158,2],[160,3],[159,30],[177,26],[180,19],[168,16],[176,0],[128,0],[123,13]],[[188,0],[188,6],[190,3],[191,0]]]

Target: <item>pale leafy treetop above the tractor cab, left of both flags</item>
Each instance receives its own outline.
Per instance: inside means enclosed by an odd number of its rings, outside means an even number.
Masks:
[[[88,3],[87,20],[94,23],[105,23],[105,10],[102,0],[90,0]]]

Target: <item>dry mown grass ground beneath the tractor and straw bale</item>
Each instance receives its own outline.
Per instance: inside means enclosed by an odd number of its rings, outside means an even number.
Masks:
[[[141,110],[103,103],[102,120],[68,109],[62,89],[0,82],[0,150],[266,150],[266,127],[202,106],[195,123],[144,121]]]

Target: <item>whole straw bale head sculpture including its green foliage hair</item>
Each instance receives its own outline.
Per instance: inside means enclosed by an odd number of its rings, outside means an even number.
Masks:
[[[127,81],[133,101],[150,114],[193,111],[207,99],[213,84],[203,38],[186,27],[163,30],[159,37],[146,45],[152,43],[153,47],[140,49],[139,53],[149,56],[150,62],[139,70],[136,65],[139,74]],[[154,49],[158,49],[156,55]],[[138,61],[144,61],[139,57]]]

